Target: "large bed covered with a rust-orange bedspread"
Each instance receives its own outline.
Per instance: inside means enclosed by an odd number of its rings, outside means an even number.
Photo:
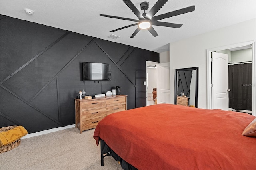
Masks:
[[[242,132],[254,119],[247,113],[158,104],[108,115],[94,139],[97,145],[102,141],[102,165],[111,155],[123,169],[252,170],[256,138]]]

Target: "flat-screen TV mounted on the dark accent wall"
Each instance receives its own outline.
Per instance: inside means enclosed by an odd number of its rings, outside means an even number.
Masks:
[[[83,62],[83,81],[111,80],[111,65]]]

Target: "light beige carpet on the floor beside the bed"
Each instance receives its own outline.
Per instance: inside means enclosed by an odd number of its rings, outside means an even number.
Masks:
[[[1,170],[122,170],[114,158],[106,156],[100,166],[100,145],[95,129],[80,134],[68,128],[21,140],[20,146],[0,154]]]

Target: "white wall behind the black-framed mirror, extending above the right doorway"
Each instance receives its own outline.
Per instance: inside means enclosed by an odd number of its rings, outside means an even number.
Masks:
[[[253,40],[256,40],[256,18],[170,43],[170,103],[174,101],[174,70],[199,67],[198,107],[206,109],[206,50]]]

